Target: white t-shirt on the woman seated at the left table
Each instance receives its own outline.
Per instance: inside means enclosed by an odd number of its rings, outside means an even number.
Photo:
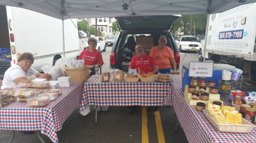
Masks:
[[[15,84],[13,82],[14,79],[19,77],[26,77],[27,79],[36,78],[37,71],[35,71],[32,67],[27,71],[23,71],[20,66],[13,64],[7,71],[4,73],[4,77],[2,80],[1,89],[7,88],[10,85]]]

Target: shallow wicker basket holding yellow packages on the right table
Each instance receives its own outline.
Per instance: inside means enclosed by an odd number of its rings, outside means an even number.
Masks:
[[[237,132],[237,133],[248,133],[256,126],[246,119],[242,118],[242,124],[218,124],[212,119],[205,110],[203,110],[205,116],[209,121],[221,132]]]

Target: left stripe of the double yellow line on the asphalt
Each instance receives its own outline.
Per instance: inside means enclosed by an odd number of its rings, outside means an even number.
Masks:
[[[147,106],[142,106],[141,143],[149,143]]]

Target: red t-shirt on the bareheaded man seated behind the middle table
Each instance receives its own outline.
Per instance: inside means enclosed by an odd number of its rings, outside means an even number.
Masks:
[[[149,73],[154,70],[153,66],[155,66],[155,65],[157,65],[157,62],[155,61],[155,59],[152,56],[145,54],[141,58],[136,55],[131,59],[129,68],[137,69],[137,72],[139,72],[138,68],[140,68],[145,73]]]

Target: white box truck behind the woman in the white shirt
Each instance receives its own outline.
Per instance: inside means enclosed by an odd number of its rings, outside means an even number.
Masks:
[[[85,41],[84,44],[79,43],[83,39],[79,39],[77,19],[71,20],[64,20],[65,57],[76,59],[88,44]],[[53,66],[57,59],[63,57],[62,31],[60,19],[23,8],[0,5],[0,48],[10,48],[12,58],[10,64],[0,59],[0,77],[3,77],[10,65],[17,63],[19,55],[24,52],[34,55],[32,67],[36,71],[41,72],[43,65]]]

